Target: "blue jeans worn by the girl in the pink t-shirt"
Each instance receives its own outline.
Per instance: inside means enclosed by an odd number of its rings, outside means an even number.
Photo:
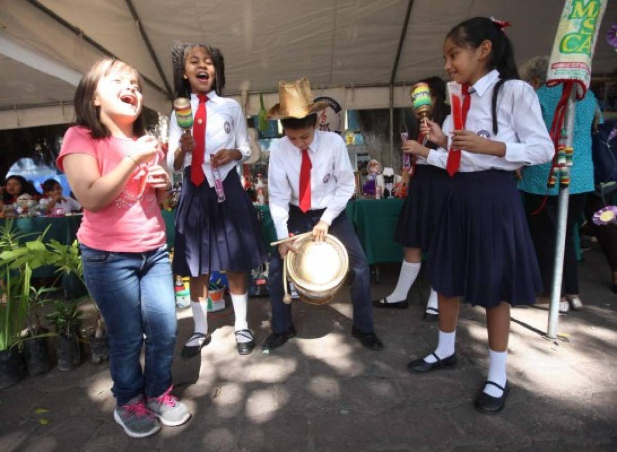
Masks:
[[[118,406],[144,393],[160,396],[172,384],[178,328],[167,245],[146,253],[111,253],[81,245],[81,257],[86,286],[107,324]]]

